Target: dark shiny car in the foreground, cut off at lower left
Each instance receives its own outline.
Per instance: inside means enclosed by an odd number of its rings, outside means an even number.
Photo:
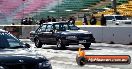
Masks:
[[[0,69],[52,69],[49,60],[7,31],[0,30]]]

